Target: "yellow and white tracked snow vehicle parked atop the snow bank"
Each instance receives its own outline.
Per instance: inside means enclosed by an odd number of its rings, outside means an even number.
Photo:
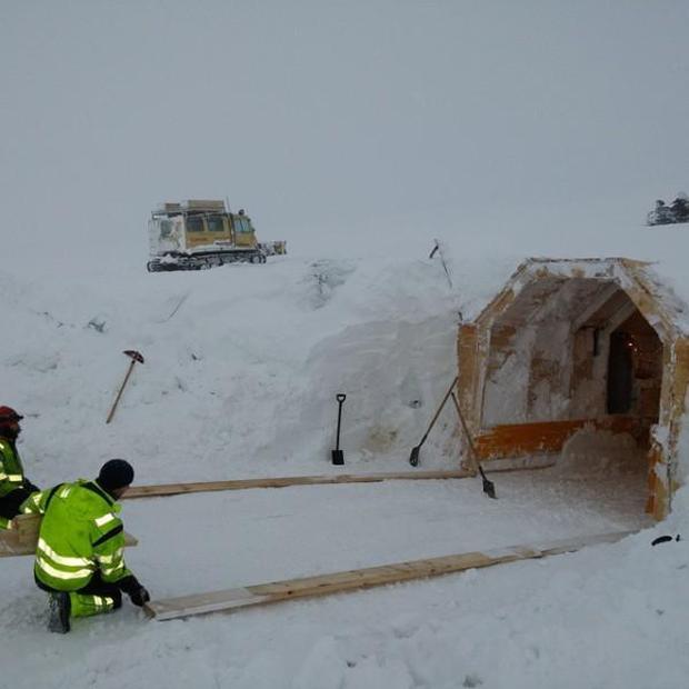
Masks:
[[[258,242],[243,210],[233,213],[224,201],[212,200],[163,203],[151,214],[149,247],[149,272],[264,263],[269,254],[286,253],[284,242]]]

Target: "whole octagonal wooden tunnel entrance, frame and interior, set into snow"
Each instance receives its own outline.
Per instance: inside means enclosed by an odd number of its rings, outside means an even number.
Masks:
[[[459,395],[483,461],[557,457],[583,430],[631,437],[647,510],[669,509],[689,357],[643,266],[532,259],[460,327]]]

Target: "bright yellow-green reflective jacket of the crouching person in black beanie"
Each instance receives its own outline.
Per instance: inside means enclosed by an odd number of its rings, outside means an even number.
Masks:
[[[60,591],[83,588],[93,572],[114,583],[131,576],[124,565],[120,506],[96,481],[61,483],[31,495],[27,513],[43,515],[34,572]]]

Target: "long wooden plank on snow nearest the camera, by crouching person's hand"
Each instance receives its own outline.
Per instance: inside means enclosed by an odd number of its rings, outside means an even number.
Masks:
[[[586,546],[612,543],[632,531],[583,536],[573,539],[553,541],[532,546],[511,546],[482,552],[465,552],[427,560],[412,560],[355,569],[350,571],[273,581],[247,586],[238,589],[210,591],[196,596],[154,600],[146,606],[147,612],[158,620],[172,620],[209,612],[230,612],[232,610],[262,606],[294,598],[311,598],[329,593],[367,589],[388,583],[400,583],[413,579],[426,579],[479,567],[491,567],[505,562],[515,562],[529,558],[542,558],[550,555],[572,552]]]

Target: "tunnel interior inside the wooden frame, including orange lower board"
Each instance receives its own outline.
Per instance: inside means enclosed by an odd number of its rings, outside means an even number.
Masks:
[[[619,280],[547,273],[507,294],[476,336],[469,416],[480,456],[549,455],[579,476],[623,475],[643,505],[657,461],[659,333]],[[461,367],[460,341],[460,378]],[[471,389],[460,392],[467,402]]]

